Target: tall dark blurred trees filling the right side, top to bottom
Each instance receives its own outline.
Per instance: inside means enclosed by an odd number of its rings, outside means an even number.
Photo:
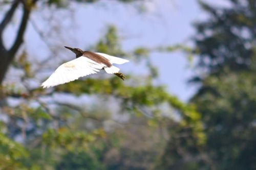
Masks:
[[[172,129],[163,169],[255,169],[255,1],[218,8],[200,1],[209,19],[196,23],[200,88],[191,104],[203,128],[200,147],[189,129]],[[195,118],[195,121],[194,121]],[[184,136],[182,136],[184,134]]]

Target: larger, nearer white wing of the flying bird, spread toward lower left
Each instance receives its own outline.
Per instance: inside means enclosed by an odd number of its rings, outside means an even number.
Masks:
[[[79,57],[60,65],[41,86],[42,88],[48,88],[68,83],[77,80],[79,77],[94,74],[104,66],[104,64],[96,63],[86,57]]]

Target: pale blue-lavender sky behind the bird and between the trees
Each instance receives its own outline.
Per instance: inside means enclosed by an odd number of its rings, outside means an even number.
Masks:
[[[61,47],[60,51],[64,53],[57,54],[59,62],[63,62],[63,56],[67,60],[73,57],[63,46],[88,48],[104,35],[108,25],[117,27],[124,51],[132,51],[138,46],[154,48],[178,43],[191,45],[191,37],[195,34],[192,23],[206,18],[196,0],[148,0],[144,6],[102,0],[93,5],[73,4],[68,13],[66,10],[52,13],[51,10],[35,9],[25,35],[25,47],[33,58],[35,55],[38,58],[48,56],[49,46]],[[17,18],[14,23],[18,22]],[[4,38],[9,40],[7,46],[11,45],[14,38],[11,32],[15,29],[14,24],[7,29],[8,34],[4,34]],[[55,29],[58,34],[51,34]],[[38,35],[38,30],[50,34]],[[62,36],[58,37],[59,34]],[[43,41],[41,37],[44,37]],[[156,83],[166,85],[171,94],[182,101],[188,101],[197,87],[187,84],[194,73],[188,66],[186,55],[182,52],[153,52],[151,60],[159,69]],[[132,61],[120,68],[141,75],[145,72],[144,67]]]

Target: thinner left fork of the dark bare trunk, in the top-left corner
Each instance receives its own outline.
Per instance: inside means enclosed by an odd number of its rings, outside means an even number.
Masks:
[[[10,22],[16,8],[18,7],[18,4],[19,4],[19,1],[17,1],[17,0],[13,1],[11,8],[6,13],[2,22],[0,23],[0,47],[1,48],[4,48],[3,39],[2,39],[3,31],[6,28],[6,26],[8,25],[8,23]]]

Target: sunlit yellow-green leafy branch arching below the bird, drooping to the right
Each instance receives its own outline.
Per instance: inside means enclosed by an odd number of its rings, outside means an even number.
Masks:
[[[191,126],[194,135],[198,136],[198,142],[204,143],[205,138],[202,132],[203,126],[200,122],[200,114],[195,111],[194,107],[186,106],[174,96],[169,95],[161,86],[157,87],[152,84],[127,86],[118,78],[105,80],[86,79],[84,81],[76,81],[57,86],[56,91],[76,95],[82,95],[84,93],[97,93],[101,96],[113,95],[115,98],[121,100],[121,107],[123,107],[123,109],[130,111],[135,111],[138,108],[145,106],[155,109],[156,106],[161,105],[162,103],[168,103],[170,107],[181,111],[182,116],[184,117],[181,125],[184,127]]]

